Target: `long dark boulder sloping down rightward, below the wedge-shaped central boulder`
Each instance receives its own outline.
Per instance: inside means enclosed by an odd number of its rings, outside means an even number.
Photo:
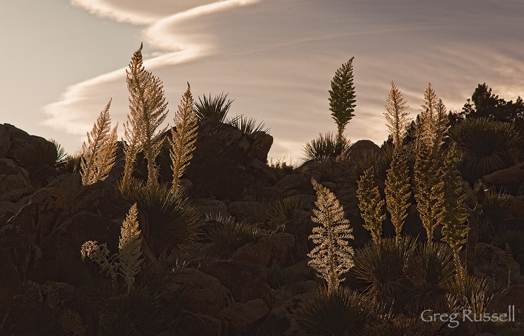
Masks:
[[[269,307],[275,303],[275,291],[267,282],[267,274],[259,266],[235,260],[191,261],[189,267],[198,268],[205,274],[216,277],[228,288],[235,302],[245,303],[261,298]]]

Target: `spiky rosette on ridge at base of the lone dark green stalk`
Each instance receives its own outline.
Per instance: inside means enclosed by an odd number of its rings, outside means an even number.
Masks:
[[[342,136],[337,138],[333,133],[322,134],[303,146],[304,160],[325,159],[340,156],[349,147],[350,141]]]

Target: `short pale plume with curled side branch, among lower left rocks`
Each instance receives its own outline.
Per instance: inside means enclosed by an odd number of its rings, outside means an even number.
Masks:
[[[138,209],[134,204],[127,214],[120,228],[120,239],[118,254],[110,256],[107,244],[88,241],[82,244],[80,253],[82,261],[89,257],[100,265],[101,271],[105,272],[114,282],[120,276],[124,279],[127,292],[131,291],[135,284],[135,277],[140,272],[142,264],[142,238],[138,230]]]

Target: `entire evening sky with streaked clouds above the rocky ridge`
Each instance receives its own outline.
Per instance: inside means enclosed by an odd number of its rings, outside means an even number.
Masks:
[[[173,125],[194,98],[228,93],[229,115],[264,122],[269,157],[300,159],[336,131],[330,80],[355,57],[352,142],[387,138],[393,80],[419,112],[431,82],[460,110],[479,83],[524,96],[524,0],[17,0],[0,5],[0,123],[53,138],[73,153],[112,98],[119,136],[129,110],[125,68],[143,42]]]

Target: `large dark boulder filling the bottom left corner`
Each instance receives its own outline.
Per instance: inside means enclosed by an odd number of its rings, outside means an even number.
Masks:
[[[91,300],[77,288],[26,282],[3,321],[0,335],[97,335],[98,319]]]

